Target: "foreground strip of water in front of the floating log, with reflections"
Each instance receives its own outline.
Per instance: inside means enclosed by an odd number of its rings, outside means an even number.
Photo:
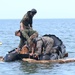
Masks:
[[[75,63],[34,64],[23,61],[0,63],[0,75],[74,75]]]

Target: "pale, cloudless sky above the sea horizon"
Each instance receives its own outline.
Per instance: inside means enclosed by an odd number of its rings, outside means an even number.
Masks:
[[[21,19],[35,8],[35,19],[75,18],[75,0],[0,0],[0,19]]]

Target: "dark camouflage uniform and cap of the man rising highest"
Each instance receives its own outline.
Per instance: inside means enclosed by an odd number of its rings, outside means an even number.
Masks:
[[[36,34],[37,36],[37,31],[32,29],[32,18],[33,16],[30,15],[30,13],[36,13],[37,11],[35,9],[32,9],[31,11],[28,11],[22,18],[22,20],[20,21],[20,24],[23,25],[24,30],[21,30],[21,33],[23,35],[24,38],[26,38],[27,42],[30,42],[30,36],[33,34]]]

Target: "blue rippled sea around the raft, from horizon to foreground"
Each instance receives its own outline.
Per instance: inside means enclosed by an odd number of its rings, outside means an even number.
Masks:
[[[20,20],[0,20],[0,56],[17,47]],[[75,19],[35,19],[33,29],[39,36],[55,34],[66,46],[68,58],[75,58]],[[75,62],[64,64],[30,64],[23,61],[0,62],[0,75],[75,75]]]

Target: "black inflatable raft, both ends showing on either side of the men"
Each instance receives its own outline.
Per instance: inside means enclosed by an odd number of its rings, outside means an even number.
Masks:
[[[54,51],[50,55],[50,60],[64,58],[65,54],[66,54],[66,47],[63,44],[63,42],[61,41],[61,39],[59,39],[57,36],[51,35],[51,34],[46,34],[43,36],[48,36],[48,37],[51,37],[54,39],[53,49],[56,51]],[[8,54],[6,54],[6,56],[4,57],[4,61],[10,62],[10,61],[15,61],[15,60],[21,60],[22,58],[29,58],[29,54],[19,54],[15,51],[15,49],[13,49],[10,52],[8,52]]]

